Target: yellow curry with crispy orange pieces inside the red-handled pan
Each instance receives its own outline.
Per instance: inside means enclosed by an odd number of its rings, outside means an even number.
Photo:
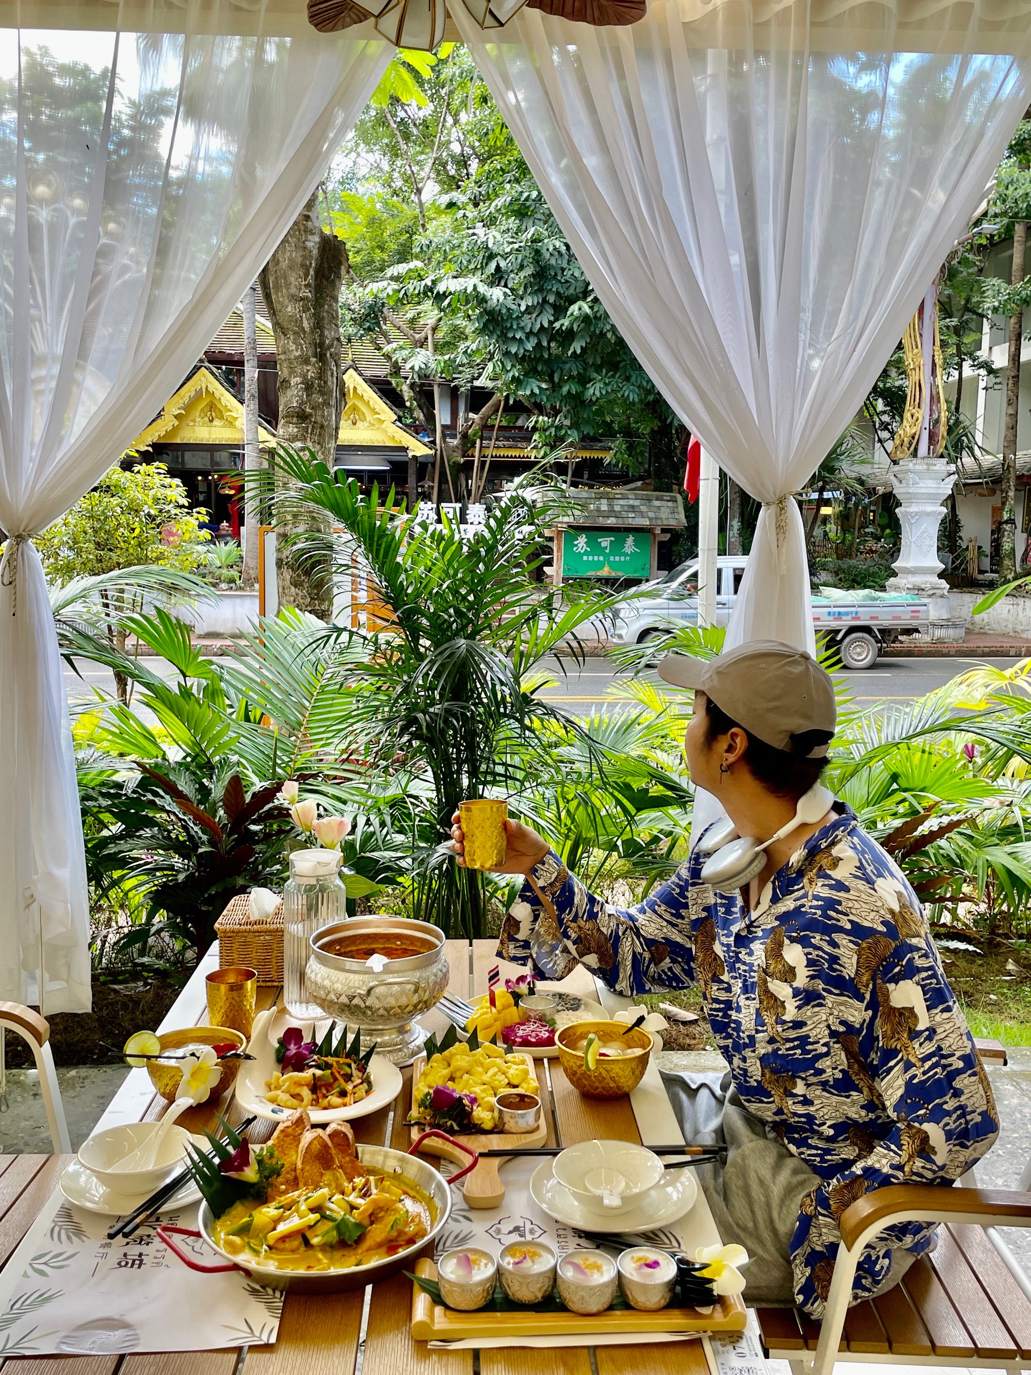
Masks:
[[[312,1128],[304,1111],[264,1147],[241,1138],[219,1170],[231,1192],[213,1199],[205,1191],[210,1239],[247,1266],[316,1273],[371,1265],[423,1242],[437,1220],[436,1202],[415,1180],[357,1158],[345,1122]]]

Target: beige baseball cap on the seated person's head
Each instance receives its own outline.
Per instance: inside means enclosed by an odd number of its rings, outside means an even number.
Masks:
[[[667,654],[658,676],[675,688],[694,688],[740,726],[774,749],[792,754],[792,736],[834,733],[834,685],[804,649],[779,639],[752,639],[718,659]],[[806,758],[822,759],[826,745]]]

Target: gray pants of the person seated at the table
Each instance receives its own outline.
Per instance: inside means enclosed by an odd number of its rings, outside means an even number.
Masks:
[[[751,1306],[792,1305],[789,1247],[801,1199],[819,1185],[818,1174],[766,1134],[766,1126],[745,1108],[724,1074],[663,1074],[683,1137],[691,1145],[726,1145],[726,1163],[696,1169],[698,1185],[724,1243],[737,1242],[751,1261],[745,1270],[745,1302]],[[892,1257],[884,1292],[913,1262],[909,1251]]]

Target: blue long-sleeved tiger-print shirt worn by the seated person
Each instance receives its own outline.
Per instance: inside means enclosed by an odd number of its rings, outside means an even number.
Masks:
[[[701,883],[691,858],[636,908],[606,906],[548,854],[499,953],[561,979],[581,962],[617,993],[700,984],[744,1106],[822,1184],[790,1243],[796,1301],[818,1317],[837,1220],[867,1189],[949,1182],[988,1150],[998,1116],[916,894],[836,803],[753,912]],[[854,1302],[933,1228],[898,1224],[867,1246]]]

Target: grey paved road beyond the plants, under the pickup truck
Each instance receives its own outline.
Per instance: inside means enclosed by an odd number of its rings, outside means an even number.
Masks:
[[[850,672],[844,676],[859,705],[877,701],[911,701],[924,693],[947,683],[957,674],[965,672],[977,660],[966,659],[881,659],[876,668],[865,672]],[[986,659],[983,663],[999,668],[1013,666],[1012,659]],[[147,667],[166,678],[175,676],[175,670],[164,659],[147,659]],[[548,701],[561,703],[576,715],[588,715],[605,704],[605,693],[616,676],[612,664],[603,659],[588,659],[581,667],[566,663],[562,670],[554,660],[548,667],[555,675],[554,686],[543,696]],[[96,664],[80,664],[81,678],[65,670],[65,681],[71,701],[92,696],[93,688],[114,690],[114,679],[106,668]]]

